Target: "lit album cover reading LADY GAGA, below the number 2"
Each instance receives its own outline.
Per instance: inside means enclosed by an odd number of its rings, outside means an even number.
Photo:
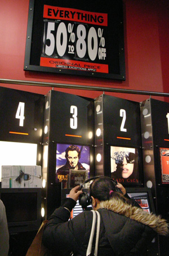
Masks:
[[[110,146],[111,177],[121,184],[139,184],[137,148]]]

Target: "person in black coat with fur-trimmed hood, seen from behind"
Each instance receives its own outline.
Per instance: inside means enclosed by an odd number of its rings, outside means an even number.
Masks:
[[[117,192],[121,189],[122,193]],[[43,244],[54,255],[85,256],[92,227],[92,211],[69,220],[70,211],[82,194],[74,187],[46,224]],[[90,185],[92,208],[100,214],[99,256],[144,256],[146,245],[158,234],[166,235],[168,225],[160,216],[148,214],[124,197],[126,190],[109,177],[96,178]],[[94,245],[95,246],[95,242]],[[91,254],[93,255],[93,254]]]

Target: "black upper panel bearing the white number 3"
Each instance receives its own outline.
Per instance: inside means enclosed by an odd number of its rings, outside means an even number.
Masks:
[[[94,100],[77,95],[50,91],[50,140],[55,142],[91,143],[93,133]]]

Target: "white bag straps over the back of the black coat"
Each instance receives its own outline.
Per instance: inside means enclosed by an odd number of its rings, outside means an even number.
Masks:
[[[93,213],[93,221],[92,221],[92,228],[91,228],[90,239],[89,239],[88,247],[86,251],[86,256],[89,256],[92,250],[92,242],[94,239],[95,225],[96,225],[96,214],[97,214],[97,231],[96,231],[96,244],[95,244],[94,256],[97,256],[98,245],[99,245],[99,233],[100,233],[100,214],[97,211],[94,211],[94,210],[91,210],[91,211]]]

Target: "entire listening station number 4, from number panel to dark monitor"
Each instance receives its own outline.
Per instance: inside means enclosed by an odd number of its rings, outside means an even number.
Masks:
[[[41,181],[38,185],[26,183],[41,179],[41,174],[24,174],[21,168],[42,166],[44,105],[44,95],[0,87],[0,198],[10,234],[37,231],[41,224]],[[7,172],[2,175],[3,165],[7,165]]]

